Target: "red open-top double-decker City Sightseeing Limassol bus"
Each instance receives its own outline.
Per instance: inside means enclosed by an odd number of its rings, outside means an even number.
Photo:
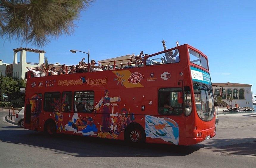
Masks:
[[[216,134],[207,56],[188,44],[141,65],[32,78],[24,127],[128,142],[193,145]]]

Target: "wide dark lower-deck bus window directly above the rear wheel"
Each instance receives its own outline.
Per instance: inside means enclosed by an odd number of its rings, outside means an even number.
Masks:
[[[46,112],[59,112],[60,92],[46,92],[44,94],[43,109]]]

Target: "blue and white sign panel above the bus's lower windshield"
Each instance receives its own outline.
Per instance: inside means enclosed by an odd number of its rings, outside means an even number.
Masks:
[[[192,81],[212,85],[210,74],[195,67],[190,67]]]

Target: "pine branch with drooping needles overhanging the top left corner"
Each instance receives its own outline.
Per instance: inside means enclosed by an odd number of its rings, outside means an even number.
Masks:
[[[0,34],[44,46],[74,32],[82,10],[94,0],[1,0]]]

